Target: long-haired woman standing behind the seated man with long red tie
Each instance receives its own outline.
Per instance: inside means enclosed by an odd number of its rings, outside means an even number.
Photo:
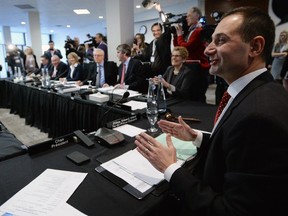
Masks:
[[[144,62],[145,59],[143,58],[143,55],[145,55],[145,49],[147,45],[148,44],[145,43],[144,34],[137,33],[131,48],[131,57]]]

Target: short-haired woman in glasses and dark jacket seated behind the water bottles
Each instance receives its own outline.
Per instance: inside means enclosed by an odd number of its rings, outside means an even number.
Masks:
[[[185,47],[174,47],[171,63],[163,75],[163,86],[168,95],[173,97],[205,102],[205,90],[201,89],[201,77],[197,71],[186,66],[188,51]],[[155,76],[153,82],[158,85],[159,78]]]

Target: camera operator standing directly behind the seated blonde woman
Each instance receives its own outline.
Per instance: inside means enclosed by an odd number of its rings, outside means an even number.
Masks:
[[[78,37],[74,37],[74,40],[72,40],[71,38],[68,38],[65,41],[64,48],[66,49],[66,58],[69,53],[75,52],[80,57],[79,62],[83,63],[86,49],[85,49],[84,44],[80,44],[80,40]]]

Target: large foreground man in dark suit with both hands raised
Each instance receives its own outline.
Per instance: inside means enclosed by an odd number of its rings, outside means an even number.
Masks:
[[[174,215],[287,215],[288,94],[265,68],[274,39],[274,23],[260,9],[228,12],[205,50],[210,74],[222,77],[231,95],[212,134],[179,117],[159,122],[168,133],[165,147],[145,133],[136,137],[178,198]],[[176,164],[171,135],[198,147],[191,169]]]

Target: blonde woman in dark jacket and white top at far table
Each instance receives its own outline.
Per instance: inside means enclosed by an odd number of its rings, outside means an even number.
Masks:
[[[71,52],[68,54],[68,74],[66,77],[67,81],[81,81],[84,79],[84,72],[82,64],[79,62],[79,56],[75,52]]]

